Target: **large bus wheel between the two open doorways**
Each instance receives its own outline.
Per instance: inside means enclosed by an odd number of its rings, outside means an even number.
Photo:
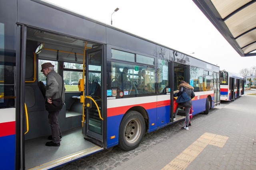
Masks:
[[[145,121],[138,111],[128,111],[122,119],[119,128],[118,147],[123,150],[133,150],[138,147],[144,137]]]

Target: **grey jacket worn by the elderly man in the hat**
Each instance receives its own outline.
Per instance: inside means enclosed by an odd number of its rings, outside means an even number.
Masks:
[[[62,83],[63,79],[62,77],[56,73],[54,70],[50,71],[46,77],[46,100],[49,98],[51,99],[57,99],[61,96],[62,91]],[[62,103],[65,102],[65,87],[63,84],[63,92],[62,92]]]

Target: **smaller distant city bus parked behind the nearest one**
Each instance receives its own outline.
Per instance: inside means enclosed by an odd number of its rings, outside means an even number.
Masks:
[[[220,71],[220,100],[234,101],[244,94],[244,77],[228,72]]]

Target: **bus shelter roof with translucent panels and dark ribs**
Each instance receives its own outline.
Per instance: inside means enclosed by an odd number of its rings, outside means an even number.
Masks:
[[[241,57],[256,56],[256,0],[193,0]]]

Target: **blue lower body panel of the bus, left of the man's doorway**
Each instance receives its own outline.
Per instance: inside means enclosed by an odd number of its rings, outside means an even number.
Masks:
[[[0,137],[0,166],[3,170],[15,169],[15,135]]]

